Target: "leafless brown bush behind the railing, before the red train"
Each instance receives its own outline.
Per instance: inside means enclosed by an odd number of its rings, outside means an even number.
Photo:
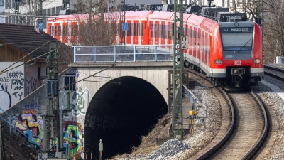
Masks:
[[[77,5],[76,26],[72,26],[70,41],[75,45],[108,46],[119,43],[119,14],[116,0],[89,1]],[[87,14],[83,14],[87,13]]]

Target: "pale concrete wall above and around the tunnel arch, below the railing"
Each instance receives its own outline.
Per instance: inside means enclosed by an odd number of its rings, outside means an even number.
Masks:
[[[72,63],[70,67],[77,68],[77,81],[87,78],[89,75],[98,73],[111,66],[112,63]],[[98,73],[99,78],[88,78],[78,82],[76,86],[81,90],[88,90],[89,97],[94,94],[111,78],[119,78],[122,76],[133,76],[142,78],[154,85],[163,95],[165,102],[168,104],[168,70],[173,70],[173,62],[141,62],[141,63],[116,63],[113,68]],[[90,82],[101,81],[101,82]],[[87,111],[87,109],[84,109]]]

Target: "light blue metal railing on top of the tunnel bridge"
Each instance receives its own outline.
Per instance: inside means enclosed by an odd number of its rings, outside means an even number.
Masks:
[[[173,61],[173,45],[73,46],[74,62]]]

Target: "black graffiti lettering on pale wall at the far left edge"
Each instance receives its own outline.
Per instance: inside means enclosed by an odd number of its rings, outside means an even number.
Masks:
[[[7,110],[16,104],[16,102],[23,99],[24,83],[24,75],[20,70],[0,75],[0,102],[1,104],[5,104],[4,107],[1,107],[3,110]],[[7,100],[11,102],[9,107],[7,107]]]

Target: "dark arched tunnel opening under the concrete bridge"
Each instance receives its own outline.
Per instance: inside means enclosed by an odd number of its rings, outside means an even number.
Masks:
[[[87,109],[84,127],[87,159],[99,159],[100,139],[102,159],[131,151],[167,112],[163,96],[146,80],[127,76],[107,82],[92,97]]]

